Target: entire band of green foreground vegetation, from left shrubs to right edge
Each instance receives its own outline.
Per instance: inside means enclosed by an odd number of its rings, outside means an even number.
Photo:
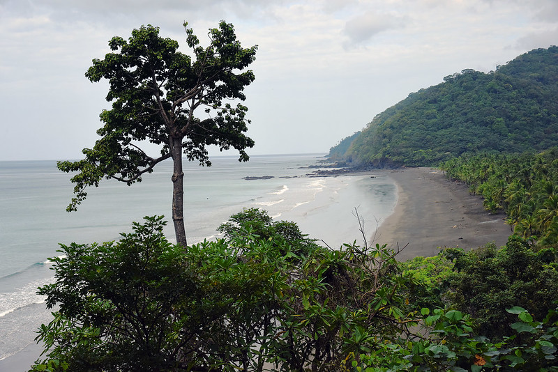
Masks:
[[[256,209],[184,249],[164,224],[61,245],[32,371],[558,371],[555,250],[515,238],[398,263],[380,245],[325,249]]]

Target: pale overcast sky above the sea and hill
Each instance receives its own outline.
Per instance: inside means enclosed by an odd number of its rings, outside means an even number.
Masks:
[[[558,44],[557,0],[0,0],[0,161],[93,146],[108,84],[84,73],[113,36],[152,24],[190,54],[183,22],[207,45],[220,20],[258,45],[248,155],[327,153],[447,75]]]

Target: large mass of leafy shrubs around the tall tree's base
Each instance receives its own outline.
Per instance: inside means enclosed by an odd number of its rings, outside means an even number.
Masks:
[[[222,227],[184,249],[146,217],[118,242],[62,245],[34,370],[335,371],[409,332],[386,247],[324,249],[256,210]]]

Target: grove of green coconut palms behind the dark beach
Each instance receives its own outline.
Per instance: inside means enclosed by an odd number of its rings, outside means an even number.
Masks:
[[[459,157],[442,169],[481,194],[488,210],[504,210],[518,235],[538,245],[558,244],[558,148],[538,154]]]

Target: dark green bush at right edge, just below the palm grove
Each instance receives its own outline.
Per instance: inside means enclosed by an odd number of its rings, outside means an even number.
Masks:
[[[476,333],[511,336],[506,309],[525,307],[541,321],[558,301],[557,258],[555,249],[536,251],[513,236],[502,249],[489,243],[462,253],[444,280],[444,302],[470,314]]]

